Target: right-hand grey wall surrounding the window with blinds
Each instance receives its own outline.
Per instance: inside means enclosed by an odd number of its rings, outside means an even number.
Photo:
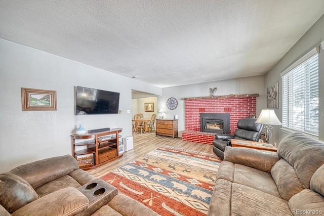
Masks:
[[[279,120],[282,122],[282,79],[280,73],[292,65],[299,58],[304,56],[314,47],[320,46],[320,42],[324,40],[324,15],[296,42],[290,51],[280,59],[280,61],[272,67],[266,74],[266,87],[279,82],[279,109],[274,109]],[[324,141],[324,50],[319,53],[319,140]],[[273,126],[272,139],[279,142],[287,136],[282,133],[281,126]]]

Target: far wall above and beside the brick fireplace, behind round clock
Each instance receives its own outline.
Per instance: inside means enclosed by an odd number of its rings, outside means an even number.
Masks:
[[[210,96],[210,88],[217,87],[215,95],[231,95],[231,94],[259,94],[257,97],[257,116],[265,109],[265,77],[253,76],[246,78],[220,80],[214,82],[205,82],[189,85],[180,85],[178,87],[170,87],[163,89],[163,95],[158,96],[157,108],[165,108],[165,118],[174,118],[178,114],[178,131],[185,129],[185,101],[183,98],[191,97],[208,97]],[[178,100],[178,107],[174,110],[167,108],[167,100],[174,97]],[[179,133],[181,136],[181,133]]]

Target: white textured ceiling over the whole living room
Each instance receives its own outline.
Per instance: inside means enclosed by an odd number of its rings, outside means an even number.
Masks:
[[[264,74],[323,0],[0,1],[0,38],[158,87]]]

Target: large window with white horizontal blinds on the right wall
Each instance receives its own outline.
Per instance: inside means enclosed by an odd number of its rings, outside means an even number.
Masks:
[[[318,136],[318,51],[313,49],[280,75],[282,127]]]

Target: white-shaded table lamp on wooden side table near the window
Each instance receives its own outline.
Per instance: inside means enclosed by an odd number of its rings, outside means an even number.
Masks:
[[[272,133],[270,131],[270,128],[273,128],[273,127],[271,125],[281,125],[281,122],[275,115],[274,110],[273,109],[263,109],[261,111],[259,118],[256,120],[256,123],[264,124],[264,128],[267,129],[267,131],[264,134],[267,143],[263,144],[263,146],[273,147],[272,144],[269,144],[269,142],[272,138]]]

